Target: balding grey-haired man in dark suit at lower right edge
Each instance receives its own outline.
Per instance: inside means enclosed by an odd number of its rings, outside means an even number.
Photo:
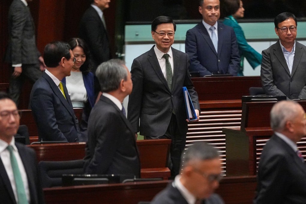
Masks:
[[[306,113],[297,102],[281,101],[270,117],[274,135],[260,156],[254,204],[306,203],[306,165],[297,148],[306,135]]]

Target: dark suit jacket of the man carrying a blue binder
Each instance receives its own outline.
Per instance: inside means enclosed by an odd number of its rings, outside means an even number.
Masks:
[[[164,135],[173,110],[179,131],[181,134],[187,133],[187,116],[182,90],[184,86],[188,89],[194,108],[200,110],[198,95],[188,71],[188,56],[172,47],[171,49],[174,57],[172,91],[162,74],[154,46],[132,63],[133,90],[129,95],[128,119],[134,131],[140,131],[140,135]]]

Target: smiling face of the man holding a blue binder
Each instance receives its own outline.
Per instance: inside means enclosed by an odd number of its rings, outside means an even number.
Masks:
[[[157,49],[162,51],[163,53],[167,53],[174,43],[174,35],[173,36],[159,36],[158,33],[174,33],[174,26],[172,23],[162,23],[156,27],[155,32],[151,31],[152,38],[156,43]]]

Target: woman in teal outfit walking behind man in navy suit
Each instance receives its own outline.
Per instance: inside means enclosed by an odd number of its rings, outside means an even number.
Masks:
[[[238,48],[240,52],[240,71],[238,76],[243,76],[243,61],[244,57],[248,63],[255,69],[261,64],[262,55],[254,50],[246,41],[244,32],[241,26],[238,24],[237,19],[244,17],[244,8],[241,0],[223,0],[222,3],[222,14],[225,16],[223,23],[232,27],[237,37]]]

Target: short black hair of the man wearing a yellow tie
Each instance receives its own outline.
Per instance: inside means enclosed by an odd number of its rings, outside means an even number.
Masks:
[[[43,60],[47,67],[57,67],[58,63],[65,57],[67,60],[71,58],[71,48],[68,43],[61,41],[53,41],[45,46],[43,52]]]

